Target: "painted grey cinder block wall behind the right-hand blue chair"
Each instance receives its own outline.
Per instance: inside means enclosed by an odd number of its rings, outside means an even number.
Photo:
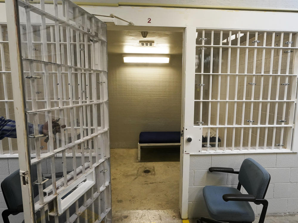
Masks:
[[[245,158],[253,158],[271,175],[266,194],[268,214],[298,212],[298,155],[297,153],[191,155],[188,188],[188,217],[209,216],[202,190],[206,185],[237,187],[238,175],[211,173],[209,167],[231,167],[239,170]],[[246,193],[242,188],[242,192]],[[251,204],[256,214],[262,205]]]

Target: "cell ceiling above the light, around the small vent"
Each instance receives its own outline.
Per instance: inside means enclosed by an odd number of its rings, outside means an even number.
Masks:
[[[144,30],[146,31],[146,30]],[[140,46],[139,41],[153,40],[153,46]],[[182,54],[182,32],[108,30],[108,53],[114,54]]]

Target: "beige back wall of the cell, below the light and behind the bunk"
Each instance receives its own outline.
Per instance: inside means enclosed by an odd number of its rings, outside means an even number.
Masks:
[[[141,131],[180,131],[182,55],[166,65],[108,55],[111,148],[137,148]]]

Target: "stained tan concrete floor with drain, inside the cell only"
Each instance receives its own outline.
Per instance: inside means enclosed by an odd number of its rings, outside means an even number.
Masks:
[[[159,153],[152,152],[161,161]],[[145,151],[142,157],[146,158]],[[179,161],[138,162],[137,149],[111,149],[113,215],[124,210],[179,209],[179,174]]]

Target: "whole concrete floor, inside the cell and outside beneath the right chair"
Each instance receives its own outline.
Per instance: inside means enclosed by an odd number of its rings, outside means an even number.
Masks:
[[[113,223],[182,223],[179,152],[177,157],[171,150],[143,150],[142,160],[137,161],[137,149],[111,149]],[[297,223],[298,214],[266,216],[265,223],[277,222]]]

